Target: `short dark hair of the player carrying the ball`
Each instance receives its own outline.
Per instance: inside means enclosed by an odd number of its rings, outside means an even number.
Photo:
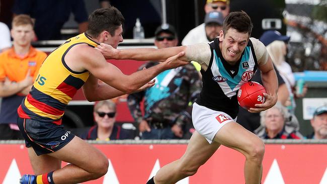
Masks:
[[[222,31],[226,34],[227,30],[230,28],[240,33],[249,33],[249,36],[251,36],[253,24],[247,13],[243,11],[231,12],[224,20]]]

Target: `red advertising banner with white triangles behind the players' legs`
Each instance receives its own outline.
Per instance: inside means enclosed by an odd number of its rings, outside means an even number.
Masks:
[[[107,155],[110,165],[105,176],[85,183],[129,184],[146,183],[160,167],[180,158],[187,145],[94,146]],[[18,183],[21,175],[33,173],[24,145],[2,144],[0,153],[0,183]],[[221,146],[195,175],[178,184],[244,183],[244,161],[237,151]],[[263,166],[263,184],[326,184],[327,144],[267,144]]]

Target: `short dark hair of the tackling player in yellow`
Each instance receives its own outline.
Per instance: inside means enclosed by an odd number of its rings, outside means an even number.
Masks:
[[[114,36],[115,31],[124,21],[123,15],[115,7],[97,9],[89,16],[87,33],[98,37],[102,31],[108,31],[111,36]]]

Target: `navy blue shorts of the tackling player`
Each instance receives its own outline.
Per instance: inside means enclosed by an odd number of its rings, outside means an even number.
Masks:
[[[33,147],[37,155],[55,152],[74,138],[74,134],[64,130],[62,125],[33,119],[18,118],[26,147]]]

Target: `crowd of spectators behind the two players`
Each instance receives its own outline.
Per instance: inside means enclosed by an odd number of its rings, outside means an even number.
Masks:
[[[99,1],[108,7],[115,1]],[[182,45],[208,43],[219,36],[224,18],[230,10],[229,0],[207,0],[204,22],[189,31]],[[60,12],[58,14],[57,12]],[[0,22],[0,139],[22,139],[17,127],[17,108],[29,93],[38,69],[46,54],[31,46],[34,40],[60,40],[62,29],[70,14],[78,23],[80,33],[88,26],[88,14],[83,0],[73,1],[28,1],[16,0],[13,7],[14,19],[11,30]],[[133,20],[129,21],[133,22]],[[127,25],[131,27],[131,25]],[[12,38],[12,42],[11,42]],[[326,139],[327,106],[317,108],[310,120],[313,132],[304,137],[295,114],[295,98],[305,96],[296,93],[295,78],[287,62],[289,36],[277,30],[269,30],[259,39],[273,60],[278,77],[278,103],[261,113],[249,113],[239,108],[237,123],[262,139]],[[173,25],[162,24],[154,32],[157,48],[178,46],[179,38]],[[139,70],[156,65],[149,61]],[[192,104],[201,89],[199,65],[186,65],[167,70],[156,77],[156,84],[149,89],[128,96],[130,112],[117,112],[115,102],[100,101],[95,104],[95,125],[80,135],[86,140],[115,139],[189,139],[194,131],[191,119]],[[197,69],[197,70],[196,70]],[[252,81],[262,83],[260,72]],[[142,102],[144,101],[144,109]],[[130,113],[139,134],[122,128],[116,123],[117,113]],[[92,115],[90,115],[92,116]]]

